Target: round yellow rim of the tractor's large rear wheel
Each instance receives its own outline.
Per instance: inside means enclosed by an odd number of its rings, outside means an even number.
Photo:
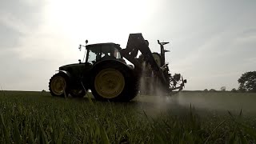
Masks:
[[[125,78],[114,69],[101,70],[94,80],[97,93],[103,98],[115,98],[125,87]]]

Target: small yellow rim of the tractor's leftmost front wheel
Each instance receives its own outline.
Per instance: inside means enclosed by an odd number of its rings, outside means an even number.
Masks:
[[[66,89],[66,80],[61,76],[57,76],[51,81],[50,86],[54,94],[61,95]]]

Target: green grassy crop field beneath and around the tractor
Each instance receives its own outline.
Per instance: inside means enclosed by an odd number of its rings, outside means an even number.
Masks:
[[[256,142],[253,93],[183,91],[126,103],[88,95],[1,91],[0,143]]]

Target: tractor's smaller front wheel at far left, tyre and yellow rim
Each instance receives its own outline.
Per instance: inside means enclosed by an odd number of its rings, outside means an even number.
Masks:
[[[69,78],[65,73],[59,72],[58,74],[54,74],[49,82],[50,94],[63,98],[67,97],[69,94],[68,84]]]

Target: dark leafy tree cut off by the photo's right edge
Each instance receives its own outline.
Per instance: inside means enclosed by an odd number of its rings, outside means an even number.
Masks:
[[[241,92],[249,91],[256,92],[256,71],[249,71],[238,79],[239,88]]]

